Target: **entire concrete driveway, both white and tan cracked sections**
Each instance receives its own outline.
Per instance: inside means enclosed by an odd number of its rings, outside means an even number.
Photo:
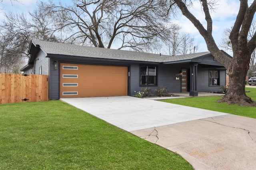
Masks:
[[[61,100],[180,154],[196,170],[256,169],[256,119],[130,96]]]

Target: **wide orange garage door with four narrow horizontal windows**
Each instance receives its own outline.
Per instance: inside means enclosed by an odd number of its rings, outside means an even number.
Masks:
[[[128,68],[60,64],[60,98],[127,96]]]

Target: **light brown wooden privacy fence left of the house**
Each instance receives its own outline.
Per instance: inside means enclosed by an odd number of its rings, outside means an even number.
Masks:
[[[0,104],[48,101],[48,76],[0,74]]]

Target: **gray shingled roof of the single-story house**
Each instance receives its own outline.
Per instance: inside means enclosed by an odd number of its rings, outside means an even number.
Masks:
[[[195,59],[204,55],[210,54],[210,52],[194,53],[187,55],[159,55],[151,53],[141,53],[136,51],[125,51],[117,49],[106,49],[98,47],[87,47],[82,45],[54,43],[47,41],[32,41],[34,46],[39,47],[50,55],[67,55],[67,56],[78,56],[78,57],[90,57],[98,59],[113,59],[113,60],[125,60],[125,61],[146,61],[155,63],[164,63],[172,61],[182,61]]]

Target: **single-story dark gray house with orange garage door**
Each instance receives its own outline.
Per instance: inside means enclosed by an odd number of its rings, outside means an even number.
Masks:
[[[28,64],[21,71],[49,75],[50,100],[134,96],[145,87],[197,96],[226,85],[226,69],[210,52],[168,56],[31,41],[28,53]]]

